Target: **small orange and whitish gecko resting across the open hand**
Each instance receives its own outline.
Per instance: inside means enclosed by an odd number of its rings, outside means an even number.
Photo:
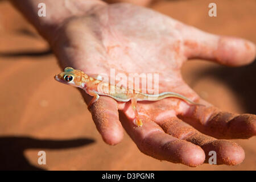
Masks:
[[[137,111],[137,101],[159,101],[167,97],[179,98],[189,104],[201,105],[196,102],[189,100],[189,98],[182,96],[181,94],[175,92],[163,92],[159,94],[146,94],[142,92],[135,92],[134,90],[129,90],[123,87],[118,87],[111,85],[109,82],[104,82],[100,79],[90,77],[79,69],[73,69],[67,67],[64,72],[59,73],[59,75],[54,76],[56,81],[63,84],[72,85],[77,88],[84,89],[87,94],[92,96],[92,100],[88,104],[88,109],[92,107],[93,103],[100,98],[100,96],[109,96],[116,101],[129,102],[131,101],[131,107],[135,114],[135,123],[137,126],[142,126],[142,120],[139,118]],[[99,87],[100,86],[100,87]],[[99,89],[100,88],[100,89]],[[109,90],[114,90],[114,92],[109,92]]]

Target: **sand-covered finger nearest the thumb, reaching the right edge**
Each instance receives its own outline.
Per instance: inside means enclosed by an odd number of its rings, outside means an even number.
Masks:
[[[219,139],[245,139],[256,135],[254,114],[233,114],[214,106],[192,106],[181,119],[201,133]]]

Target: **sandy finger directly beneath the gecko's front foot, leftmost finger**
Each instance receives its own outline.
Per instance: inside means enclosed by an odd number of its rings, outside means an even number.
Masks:
[[[81,90],[81,93],[88,104],[92,97],[86,94],[84,90]],[[117,102],[112,98],[100,96],[90,109],[98,132],[104,142],[110,145],[121,142],[123,138],[123,129],[119,122],[117,107]]]

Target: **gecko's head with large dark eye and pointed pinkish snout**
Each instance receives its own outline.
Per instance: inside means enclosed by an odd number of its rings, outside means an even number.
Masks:
[[[60,73],[59,75],[55,75],[54,78],[56,81],[59,81],[63,84],[84,88],[84,82],[82,82],[82,75],[84,75],[84,72],[78,69],[67,67],[64,69],[64,72]]]

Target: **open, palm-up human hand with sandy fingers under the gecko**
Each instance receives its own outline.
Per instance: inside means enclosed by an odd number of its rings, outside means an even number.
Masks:
[[[253,43],[208,34],[129,3],[71,1],[69,5],[54,23],[46,20],[46,25],[51,24],[47,28],[38,28],[25,14],[48,40],[61,68],[73,67],[88,75],[109,74],[110,68],[116,73],[159,73],[159,93],[176,92],[205,105],[174,98],[138,102],[143,127],[137,127],[130,102],[101,96],[91,113],[106,143],[121,142],[123,127],[139,150],[159,160],[195,167],[208,163],[209,151],[216,151],[217,164],[243,161],[243,149],[225,139],[256,135],[256,116],[221,111],[202,100],[183,81],[180,68],[192,58],[228,66],[249,64],[255,58]],[[88,104],[92,97],[81,93]]]

